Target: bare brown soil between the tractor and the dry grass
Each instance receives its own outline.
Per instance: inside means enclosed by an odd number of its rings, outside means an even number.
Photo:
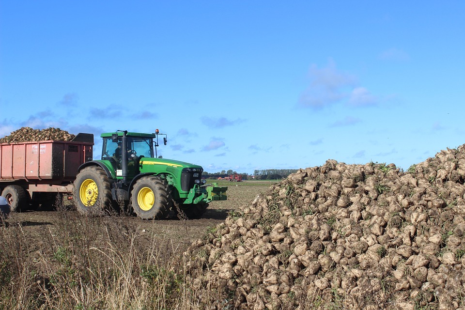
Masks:
[[[133,216],[108,216],[100,218],[99,221],[110,224],[121,223],[122,233],[136,231],[140,241],[144,242],[143,240],[145,240],[147,244],[169,245],[173,251],[179,253],[186,250],[193,241],[202,238],[209,227],[223,222],[230,211],[236,210],[242,205],[248,205],[258,194],[266,191],[270,184],[270,182],[264,181],[222,183],[220,186],[229,187],[228,200],[211,202],[200,219],[180,220],[174,213],[171,213],[163,220],[142,220]],[[60,240],[53,240],[53,236],[59,238],[63,230],[68,229],[70,222],[78,223],[81,221],[82,216],[73,210],[26,211],[11,214],[5,224],[8,227],[20,226],[22,233],[29,241],[30,250],[34,251],[49,247],[50,242],[60,243]],[[73,230],[73,228],[69,229]],[[101,233],[105,233],[103,227]],[[50,236],[52,236],[52,240],[50,240]]]

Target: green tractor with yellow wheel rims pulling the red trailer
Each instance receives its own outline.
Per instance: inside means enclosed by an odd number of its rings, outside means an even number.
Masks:
[[[227,199],[228,187],[207,185],[201,166],[157,157],[160,135],[166,145],[166,134],[158,129],[102,134],[102,159],[82,164],[74,182],[78,211],[101,213],[129,205],[143,219],[161,219],[171,210],[198,218],[209,202]]]

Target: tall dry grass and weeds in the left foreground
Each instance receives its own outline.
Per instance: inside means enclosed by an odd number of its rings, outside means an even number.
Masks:
[[[40,247],[15,215],[0,227],[1,309],[193,308],[173,244],[140,237],[123,217],[58,212]]]

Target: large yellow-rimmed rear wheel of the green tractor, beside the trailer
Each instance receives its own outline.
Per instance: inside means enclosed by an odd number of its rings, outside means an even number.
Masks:
[[[81,214],[101,215],[111,207],[111,190],[107,173],[100,167],[82,169],[74,181],[76,208]]]

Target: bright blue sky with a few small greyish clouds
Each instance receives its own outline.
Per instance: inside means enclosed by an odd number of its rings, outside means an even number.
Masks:
[[[205,171],[465,143],[464,1],[0,0],[0,136],[168,135]]]

